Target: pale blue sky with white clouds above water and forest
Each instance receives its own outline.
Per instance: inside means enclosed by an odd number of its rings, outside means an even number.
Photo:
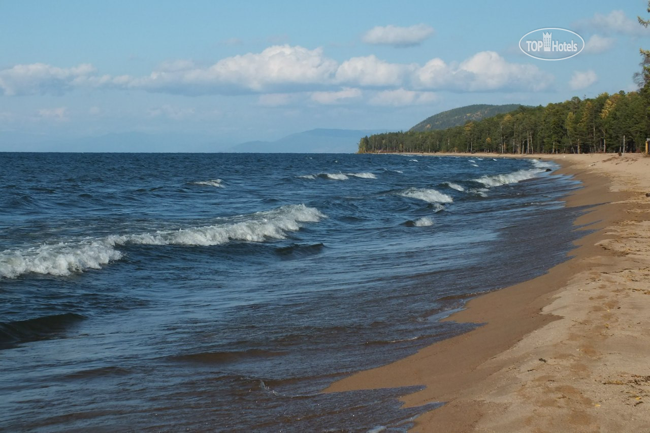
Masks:
[[[0,0],[0,151],[123,133],[218,150],[314,128],[406,130],[474,103],[629,92],[639,49],[650,48],[636,18],[650,18],[647,7]],[[577,33],[584,50],[525,55],[521,38],[547,27]]]

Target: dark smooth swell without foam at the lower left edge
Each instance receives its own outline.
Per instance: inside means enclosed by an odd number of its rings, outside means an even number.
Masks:
[[[79,314],[64,313],[26,321],[0,322],[0,348],[53,337],[84,319],[86,317]]]

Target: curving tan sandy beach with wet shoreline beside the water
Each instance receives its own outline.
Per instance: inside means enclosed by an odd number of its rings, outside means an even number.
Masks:
[[[424,386],[404,404],[446,404],[414,432],[650,431],[650,157],[523,157],[584,185],[566,198],[584,209],[571,258],[446,319],[484,326],[326,391]]]

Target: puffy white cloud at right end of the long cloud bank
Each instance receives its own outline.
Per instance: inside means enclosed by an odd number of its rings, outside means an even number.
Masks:
[[[532,64],[507,62],[494,51],[481,51],[458,65],[432,59],[413,73],[415,88],[431,90],[543,90],[552,76]]]

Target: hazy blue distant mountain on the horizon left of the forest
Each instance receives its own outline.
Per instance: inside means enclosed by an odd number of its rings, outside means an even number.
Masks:
[[[384,129],[311,129],[275,141],[249,141],[227,151],[242,153],[356,153],[359,140]]]

